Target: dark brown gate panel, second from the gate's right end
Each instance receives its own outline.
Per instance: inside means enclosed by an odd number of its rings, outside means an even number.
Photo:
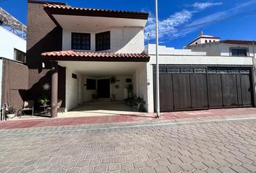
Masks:
[[[236,84],[236,74],[221,74],[223,89],[223,106],[237,107],[238,94]]]

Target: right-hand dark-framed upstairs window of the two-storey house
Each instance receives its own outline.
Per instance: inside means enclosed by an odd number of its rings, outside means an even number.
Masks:
[[[96,51],[110,49],[110,31],[95,35]]]

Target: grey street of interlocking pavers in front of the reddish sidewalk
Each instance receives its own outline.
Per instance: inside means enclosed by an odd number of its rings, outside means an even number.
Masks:
[[[0,133],[0,172],[256,172],[256,121]]]

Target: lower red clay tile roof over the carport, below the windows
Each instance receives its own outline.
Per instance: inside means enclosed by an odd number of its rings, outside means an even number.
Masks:
[[[92,53],[62,50],[42,53],[41,56],[56,61],[149,61],[145,53]]]

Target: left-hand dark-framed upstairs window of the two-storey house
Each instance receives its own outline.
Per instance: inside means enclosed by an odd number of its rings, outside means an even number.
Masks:
[[[80,48],[77,48],[74,46],[74,36],[75,35],[80,35],[80,40],[78,41],[79,43],[76,43],[77,45],[80,45]],[[82,48],[82,36],[85,36],[85,48]],[[87,40],[88,39],[88,40]],[[90,44],[91,36],[90,33],[85,33],[85,32],[72,32],[71,33],[71,49],[72,50],[90,50],[91,44]],[[89,41],[89,42],[88,42]],[[87,43],[88,42],[88,43]],[[88,47],[88,48],[87,48]]]

